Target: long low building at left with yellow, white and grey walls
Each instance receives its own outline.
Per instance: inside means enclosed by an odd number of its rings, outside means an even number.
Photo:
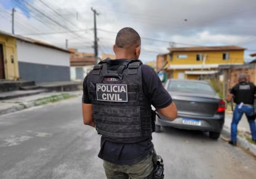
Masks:
[[[70,51],[0,30],[0,81],[70,81]]]

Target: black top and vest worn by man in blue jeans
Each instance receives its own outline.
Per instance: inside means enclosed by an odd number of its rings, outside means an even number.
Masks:
[[[256,92],[256,87],[253,83],[240,82],[236,84],[231,90],[230,93],[234,95],[234,102],[240,104],[253,104],[254,95]]]

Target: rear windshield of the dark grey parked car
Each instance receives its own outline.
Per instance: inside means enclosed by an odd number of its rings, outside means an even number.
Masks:
[[[195,81],[170,81],[167,90],[173,92],[215,95],[214,90],[209,84],[198,83]]]

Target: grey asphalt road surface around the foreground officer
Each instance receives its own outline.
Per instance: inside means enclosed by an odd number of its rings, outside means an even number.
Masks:
[[[81,98],[0,116],[0,179],[104,179],[100,136],[84,126]],[[206,133],[154,133],[165,179],[255,179],[256,159]]]

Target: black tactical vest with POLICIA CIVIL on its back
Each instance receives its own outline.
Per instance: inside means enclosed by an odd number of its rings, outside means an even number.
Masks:
[[[104,60],[88,76],[96,130],[108,141],[135,143],[151,138],[151,106],[145,104],[141,64],[127,59],[117,71],[110,71]]]

